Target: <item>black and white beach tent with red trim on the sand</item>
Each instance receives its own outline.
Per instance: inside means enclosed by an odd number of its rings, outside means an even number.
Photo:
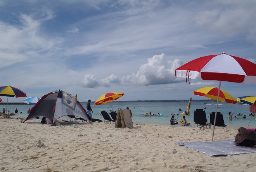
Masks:
[[[35,117],[46,117],[51,124],[54,124],[56,120],[62,121],[64,116],[67,119],[67,115],[90,121],[86,110],[75,96],[57,90],[42,96],[41,100],[31,108],[25,121]]]

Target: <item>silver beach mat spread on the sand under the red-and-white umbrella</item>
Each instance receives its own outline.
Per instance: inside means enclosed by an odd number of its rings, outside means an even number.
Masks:
[[[187,142],[187,143],[175,143],[180,146],[186,146],[195,151],[202,152],[209,156],[218,155],[238,155],[243,153],[256,153],[256,148],[236,146],[234,145],[234,139],[223,140],[223,141],[212,141],[212,142]]]

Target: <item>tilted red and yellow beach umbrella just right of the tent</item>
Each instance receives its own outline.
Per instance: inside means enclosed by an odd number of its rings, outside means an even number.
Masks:
[[[110,93],[106,93],[102,96],[100,96],[94,103],[93,106],[95,105],[102,105],[107,103],[107,102],[112,102],[114,100],[117,100],[118,98],[122,97],[123,95],[125,95],[124,93],[119,93],[119,92],[110,92]],[[111,105],[111,104],[110,104]],[[112,105],[111,105],[111,108],[112,108]],[[113,110],[113,108],[112,108]]]

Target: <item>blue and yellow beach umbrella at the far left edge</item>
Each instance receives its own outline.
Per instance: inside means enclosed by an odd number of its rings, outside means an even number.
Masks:
[[[6,103],[6,113],[8,107],[8,98],[9,97],[26,97],[26,93],[21,91],[18,88],[12,86],[0,86],[0,96],[7,96],[7,103]]]

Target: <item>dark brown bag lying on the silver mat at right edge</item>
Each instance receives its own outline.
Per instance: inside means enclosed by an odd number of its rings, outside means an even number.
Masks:
[[[251,129],[240,127],[238,133],[235,136],[234,144],[237,146],[249,146],[256,145],[256,132]]]

